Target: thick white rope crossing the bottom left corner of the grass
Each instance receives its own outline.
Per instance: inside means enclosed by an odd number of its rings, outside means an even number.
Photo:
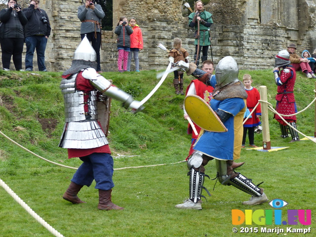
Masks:
[[[18,197],[1,179],[1,187],[11,196],[13,199],[19,203],[32,217],[34,217],[43,227],[45,227],[51,234],[56,237],[64,237],[53,227],[51,227],[46,221],[44,221],[38,214],[35,213],[20,197]]]

